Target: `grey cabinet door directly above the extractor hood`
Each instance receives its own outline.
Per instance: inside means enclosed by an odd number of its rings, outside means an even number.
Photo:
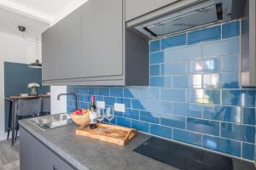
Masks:
[[[125,20],[135,19],[157,8],[175,2],[177,0],[125,0]]]

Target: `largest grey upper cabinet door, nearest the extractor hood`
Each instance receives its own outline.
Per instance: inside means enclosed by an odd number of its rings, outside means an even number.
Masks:
[[[89,0],[82,6],[82,68],[79,77],[123,74],[123,0]]]

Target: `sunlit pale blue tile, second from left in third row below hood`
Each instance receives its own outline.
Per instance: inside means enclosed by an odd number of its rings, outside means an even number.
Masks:
[[[161,75],[185,75],[186,74],[186,63],[175,62],[170,64],[161,65]]]

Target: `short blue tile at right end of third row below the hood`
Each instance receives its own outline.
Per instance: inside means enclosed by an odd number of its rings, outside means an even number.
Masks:
[[[223,57],[222,71],[239,71],[239,57],[237,55]]]

